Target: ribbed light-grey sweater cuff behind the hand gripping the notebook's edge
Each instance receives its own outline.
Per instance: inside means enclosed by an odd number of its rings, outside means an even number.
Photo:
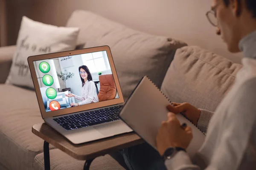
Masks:
[[[207,127],[209,125],[210,119],[212,118],[212,115],[214,114],[214,112],[211,111],[207,111],[204,109],[200,109],[201,110],[201,114],[199,116],[198,119],[198,124],[197,127],[202,130],[204,133],[207,132]]]

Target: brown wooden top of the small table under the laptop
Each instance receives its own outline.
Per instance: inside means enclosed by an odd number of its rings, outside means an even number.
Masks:
[[[93,159],[144,142],[137,134],[130,132],[83,144],[73,144],[46,123],[33,125],[32,133],[79,160]]]

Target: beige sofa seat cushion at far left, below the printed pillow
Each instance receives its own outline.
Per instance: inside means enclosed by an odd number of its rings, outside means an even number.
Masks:
[[[34,170],[44,144],[31,131],[32,125],[44,122],[35,91],[0,84],[0,94],[0,163],[9,170]]]

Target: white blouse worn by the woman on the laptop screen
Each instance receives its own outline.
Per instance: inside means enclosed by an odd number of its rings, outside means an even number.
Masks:
[[[82,96],[76,96],[75,99],[80,100],[79,105],[85,105],[90,103],[99,102],[97,93],[96,93],[96,86],[93,81],[86,81],[84,86],[81,89]]]

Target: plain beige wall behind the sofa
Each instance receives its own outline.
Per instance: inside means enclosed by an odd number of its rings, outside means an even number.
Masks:
[[[131,28],[198,45],[235,62],[207,18],[212,0],[8,0],[8,43],[15,44],[22,15],[65,26],[75,9],[85,9]]]

